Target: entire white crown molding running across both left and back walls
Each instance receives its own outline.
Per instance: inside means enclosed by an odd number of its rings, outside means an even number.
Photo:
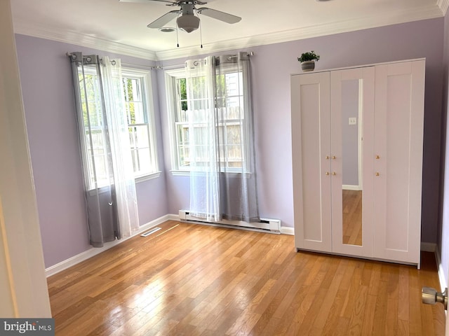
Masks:
[[[203,44],[203,48],[199,48],[198,45],[194,45],[191,47],[175,48],[157,52],[133,47],[131,45],[117,43],[114,41],[108,41],[95,36],[80,34],[75,31],[48,31],[48,29],[46,29],[45,27],[36,27],[36,25],[28,25],[25,22],[14,22],[14,31],[17,34],[46,38],[48,40],[80,45],[87,48],[105,50],[120,55],[128,55],[142,59],[149,59],[152,61],[163,61],[168,59],[192,57],[196,55],[209,54],[226,50],[250,48],[257,45],[268,45],[274,43],[296,41],[304,38],[339,34],[349,31],[370,29],[387,25],[396,25],[405,22],[441,18],[445,15],[448,7],[449,0],[437,0],[437,4],[434,6],[396,11],[387,15],[382,14],[376,16],[368,16],[366,18],[357,18],[355,20],[330,22],[323,25],[302,27],[299,29],[291,29],[288,31],[278,31],[269,34],[236,38],[229,41],[205,43]]]

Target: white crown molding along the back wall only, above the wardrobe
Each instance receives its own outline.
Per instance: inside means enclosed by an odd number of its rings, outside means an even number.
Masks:
[[[447,2],[449,0],[439,1]],[[268,45],[288,41],[297,41],[304,38],[346,33],[349,31],[396,25],[419,20],[441,18],[441,16],[441,10],[440,8],[438,8],[438,6],[427,6],[425,8],[389,13],[389,15],[382,14],[377,16],[368,16],[366,18],[357,18],[355,20],[331,22],[324,25],[315,25],[288,31],[279,31],[271,34],[261,34],[257,36],[236,38],[234,40],[220,41],[217,43],[206,43],[203,44],[202,49],[199,48],[199,46],[194,46],[159,51],[156,52],[156,57],[159,61],[177,59],[182,57],[192,57],[213,52],[250,48],[258,45]]]

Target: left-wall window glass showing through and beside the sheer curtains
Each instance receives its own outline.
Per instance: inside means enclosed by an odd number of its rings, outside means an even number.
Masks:
[[[81,69],[80,69],[81,70]],[[79,73],[80,84],[82,73]],[[96,168],[97,187],[101,188],[109,183],[111,171],[107,167],[106,155],[108,155],[109,144],[103,127],[103,114],[100,106],[100,89],[98,75],[95,66],[85,66],[86,87],[80,87],[81,102],[83,102],[85,141],[91,133],[92,146],[86,146],[88,153],[88,186],[95,188],[93,176],[93,165]],[[150,178],[159,173],[156,157],[156,141],[154,130],[154,117],[152,113],[152,94],[150,76],[148,71],[137,69],[122,69],[123,97],[125,99],[125,110],[128,119],[128,130],[130,137],[130,153],[133,158],[135,178]],[[87,99],[85,99],[87,95]],[[88,108],[88,109],[87,109]],[[91,149],[92,148],[92,149]]]

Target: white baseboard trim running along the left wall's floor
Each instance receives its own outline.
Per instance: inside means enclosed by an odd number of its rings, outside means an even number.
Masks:
[[[157,225],[162,224],[165,221],[174,220],[177,221],[177,216],[174,217],[173,215],[165,215],[159,218],[156,218],[154,221],[151,221],[149,223],[146,223],[144,225],[141,225],[139,230],[134,233],[131,237],[135,237],[137,235],[142,234],[142,232],[145,232],[151,228],[154,228]],[[88,249],[87,251],[81,252],[77,255],[74,255],[72,258],[62,260],[61,262],[58,262],[58,264],[55,264],[53,266],[50,266],[45,269],[46,276],[52,276],[56,273],[59,273],[63,271],[64,269],[67,269],[69,267],[72,267],[76,264],[79,264],[79,262],[82,262],[84,260],[87,260],[88,258],[92,258],[94,255],[98,255],[106,250],[109,250],[109,248],[112,248],[118,244],[121,244],[123,241],[126,241],[127,239],[130,239],[131,237],[124,238],[124,239],[116,239],[114,241],[109,241],[108,243],[105,243],[103,247],[95,248],[92,247]]]

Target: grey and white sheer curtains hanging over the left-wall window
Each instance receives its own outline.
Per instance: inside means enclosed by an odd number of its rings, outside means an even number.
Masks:
[[[120,59],[68,54],[72,60],[91,245],[138,230],[138,206]]]

